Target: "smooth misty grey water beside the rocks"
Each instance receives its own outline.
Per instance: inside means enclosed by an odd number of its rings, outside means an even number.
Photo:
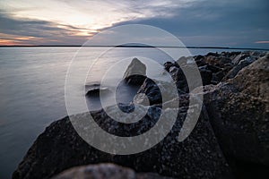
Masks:
[[[13,170],[40,132],[67,115],[65,74],[78,47],[1,47],[0,48],[0,178],[10,178]],[[89,47],[80,63],[103,48]],[[193,55],[205,54],[195,49]],[[215,51],[215,50],[213,50]],[[101,70],[130,56],[144,56],[164,63],[170,60],[154,48],[117,48],[100,56],[87,82],[100,81]],[[179,56],[178,56],[179,57]],[[154,69],[150,69],[153,70]],[[161,72],[156,72],[156,75]],[[79,89],[84,90],[83,85]],[[123,91],[126,91],[124,89]],[[134,91],[133,91],[134,92]],[[121,100],[129,98],[123,94]],[[94,99],[92,100],[94,102]],[[89,101],[88,101],[89,102]],[[89,103],[89,107],[98,105]]]

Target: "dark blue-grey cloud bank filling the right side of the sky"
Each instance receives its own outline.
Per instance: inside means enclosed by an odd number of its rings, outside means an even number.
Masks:
[[[177,13],[167,19],[156,17],[117,25],[156,26],[178,36],[187,46],[268,47],[253,43],[269,38],[268,7],[266,0],[206,0],[176,8]]]

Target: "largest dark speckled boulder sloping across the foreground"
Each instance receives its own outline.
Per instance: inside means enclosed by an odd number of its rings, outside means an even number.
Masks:
[[[109,109],[113,111],[113,107]],[[165,109],[165,117],[170,120],[170,110]],[[169,134],[152,149],[133,155],[111,155],[91,147],[74,131],[68,117],[50,124],[45,132],[30,147],[22,163],[13,173],[13,179],[50,178],[72,166],[82,166],[112,162],[127,166],[136,172],[151,172],[180,178],[230,178],[230,167],[223,157],[206,111],[195,125],[195,129],[185,141],[179,142],[183,121],[187,109],[179,109],[178,120]],[[119,136],[134,136],[152,127],[158,120],[161,108],[148,108],[147,115],[134,124],[120,124],[106,113],[91,113],[100,127]],[[80,121],[87,114],[75,115]],[[137,130],[140,129],[140,130]],[[98,136],[92,136],[98,138]],[[130,141],[132,143],[132,141]],[[151,141],[149,141],[151,142]],[[118,145],[121,145],[120,143]]]

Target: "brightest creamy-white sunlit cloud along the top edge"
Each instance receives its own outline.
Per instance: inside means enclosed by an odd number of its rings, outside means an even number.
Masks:
[[[196,0],[138,0],[138,1],[72,1],[72,0],[3,0],[2,8],[13,18],[29,18],[39,21],[72,25],[98,31],[121,21],[170,17],[174,8],[185,7]]]

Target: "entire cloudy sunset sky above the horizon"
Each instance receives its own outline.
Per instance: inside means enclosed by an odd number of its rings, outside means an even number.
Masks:
[[[186,46],[269,48],[268,0],[0,0],[0,45],[81,46],[102,30],[146,24]]]

